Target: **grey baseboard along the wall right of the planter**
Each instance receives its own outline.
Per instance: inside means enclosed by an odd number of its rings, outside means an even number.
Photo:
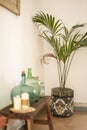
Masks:
[[[87,112],[87,103],[74,103],[74,110]]]

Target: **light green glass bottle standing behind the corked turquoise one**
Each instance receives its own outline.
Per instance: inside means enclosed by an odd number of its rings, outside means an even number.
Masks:
[[[40,80],[38,77],[32,76],[32,69],[28,68],[27,78],[26,78],[26,84],[29,86],[32,86],[36,90],[36,101],[40,98]]]

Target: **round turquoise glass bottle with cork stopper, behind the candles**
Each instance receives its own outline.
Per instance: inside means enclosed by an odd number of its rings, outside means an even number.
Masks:
[[[36,90],[32,87],[32,86],[28,86],[26,85],[26,74],[23,71],[21,74],[21,84],[14,87],[11,90],[11,100],[13,103],[13,98],[17,95],[19,95],[21,97],[22,93],[28,93],[29,94],[29,99],[30,99],[30,105],[32,105],[35,101],[36,101]]]

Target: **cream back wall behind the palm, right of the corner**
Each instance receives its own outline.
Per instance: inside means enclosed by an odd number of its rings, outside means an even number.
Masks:
[[[87,22],[87,0],[43,0],[43,11],[54,15],[70,28]],[[51,49],[45,43],[45,52]],[[46,93],[58,86],[56,61],[45,66]],[[76,53],[69,73],[67,87],[74,89],[75,102],[87,103],[87,49]]]

